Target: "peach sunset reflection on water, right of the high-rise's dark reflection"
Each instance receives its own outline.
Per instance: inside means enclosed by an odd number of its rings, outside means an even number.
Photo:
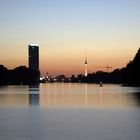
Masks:
[[[127,107],[135,105],[135,101],[129,99],[124,93],[107,93],[104,87],[88,84],[53,84],[48,85],[47,92],[40,94],[41,107],[90,107],[90,108],[112,108]],[[78,87],[79,86],[79,87]],[[57,87],[57,88],[56,88]],[[81,91],[77,91],[81,88]],[[50,89],[50,90],[49,90]],[[111,89],[110,89],[111,90]]]

